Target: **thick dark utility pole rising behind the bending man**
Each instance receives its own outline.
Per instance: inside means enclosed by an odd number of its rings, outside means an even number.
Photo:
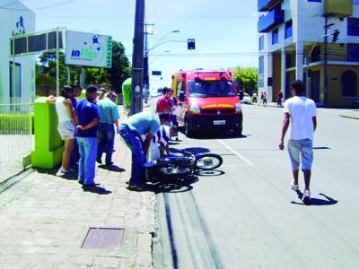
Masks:
[[[144,0],[136,0],[134,49],[132,56],[131,115],[143,109],[144,86]]]

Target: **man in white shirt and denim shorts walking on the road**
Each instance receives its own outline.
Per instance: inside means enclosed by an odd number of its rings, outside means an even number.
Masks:
[[[317,108],[313,100],[304,96],[304,84],[297,80],[292,82],[293,98],[285,100],[285,118],[282,126],[282,136],[279,149],[285,148],[285,133],[291,122],[291,130],[288,140],[288,152],[292,162],[293,181],[292,188],[299,191],[298,173],[302,159],[302,172],[304,175],[304,191],[302,201],[311,201],[311,165],[313,162],[313,136],[317,127]]]

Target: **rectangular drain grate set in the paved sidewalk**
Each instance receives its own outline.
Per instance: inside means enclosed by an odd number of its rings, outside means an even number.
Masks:
[[[117,249],[121,246],[123,228],[90,228],[82,248]]]

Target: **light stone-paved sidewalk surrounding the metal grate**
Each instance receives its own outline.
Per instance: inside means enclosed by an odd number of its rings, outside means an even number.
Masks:
[[[118,135],[115,148],[99,187],[34,171],[0,194],[0,268],[152,268],[155,195],[127,190],[131,152]],[[124,228],[121,246],[82,248],[92,227]]]

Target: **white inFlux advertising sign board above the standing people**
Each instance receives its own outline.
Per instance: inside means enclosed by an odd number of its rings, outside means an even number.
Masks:
[[[111,67],[112,37],[66,30],[66,65]]]

